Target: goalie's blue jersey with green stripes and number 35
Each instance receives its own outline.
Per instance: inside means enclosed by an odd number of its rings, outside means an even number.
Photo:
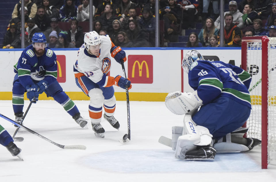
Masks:
[[[203,104],[217,97],[229,97],[251,108],[248,92],[251,76],[245,70],[221,61],[195,61],[189,70],[189,85]]]

